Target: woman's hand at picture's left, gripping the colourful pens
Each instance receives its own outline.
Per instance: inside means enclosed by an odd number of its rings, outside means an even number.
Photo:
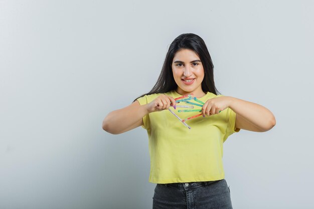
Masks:
[[[170,105],[176,106],[176,100],[166,94],[162,94],[147,104],[147,111],[156,112],[169,109]]]

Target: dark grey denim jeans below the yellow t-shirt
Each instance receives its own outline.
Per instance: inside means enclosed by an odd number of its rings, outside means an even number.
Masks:
[[[186,183],[158,183],[152,197],[153,209],[232,209],[225,179]]]

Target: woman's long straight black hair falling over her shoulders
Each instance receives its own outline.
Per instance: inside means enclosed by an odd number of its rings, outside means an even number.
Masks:
[[[167,52],[165,62],[162,68],[162,72],[156,84],[152,89],[136,99],[149,94],[166,93],[172,90],[176,90],[178,85],[172,74],[172,62],[175,54],[181,49],[193,50],[201,59],[204,68],[204,79],[202,81],[203,92],[211,92],[217,95],[218,90],[215,87],[214,82],[214,65],[212,58],[208,52],[204,40],[196,34],[181,34],[170,45]],[[218,92],[219,93],[219,92]],[[219,93],[220,94],[220,93]],[[136,100],[134,99],[134,101]],[[134,102],[133,101],[133,102]]]

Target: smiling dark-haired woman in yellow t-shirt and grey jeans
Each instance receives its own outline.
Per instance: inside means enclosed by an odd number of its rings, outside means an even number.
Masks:
[[[240,129],[264,132],[276,123],[259,104],[218,95],[213,68],[203,39],[182,34],[170,45],[152,90],[103,120],[112,134],[147,130],[153,208],[232,208],[223,142]],[[180,111],[186,109],[199,113]],[[196,114],[202,115],[191,118]]]

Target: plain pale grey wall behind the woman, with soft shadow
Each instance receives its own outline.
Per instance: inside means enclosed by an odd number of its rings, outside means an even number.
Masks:
[[[102,130],[171,42],[207,44],[226,95],[270,109],[224,143],[234,208],[313,208],[312,1],[0,1],[0,208],[151,208],[146,131]]]

